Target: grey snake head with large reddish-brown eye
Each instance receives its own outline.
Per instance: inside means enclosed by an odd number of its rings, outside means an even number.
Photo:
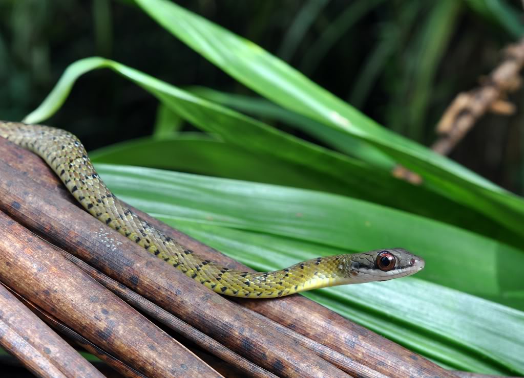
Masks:
[[[424,268],[424,259],[402,248],[377,249],[345,255],[340,268],[348,283],[387,281],[415,274]]]

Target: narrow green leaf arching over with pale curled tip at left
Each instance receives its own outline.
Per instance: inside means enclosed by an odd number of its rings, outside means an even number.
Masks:
[[[110,68],[135,82],[194,126],[227,143],[297,165],[304,179],[322,183],[326,191],[409,210],[482,234],[499,235],[501,231],[489,218],[426,188],[397,180],[389,172],[293,137],[111,60],[87,58],[71,64],[53,91],[25,121],[36,123],[50,117],[65,101],[80,75],[100,68]],[[521,243],[514,236],[509,239],[512,243],[514,239],[517,244]]]

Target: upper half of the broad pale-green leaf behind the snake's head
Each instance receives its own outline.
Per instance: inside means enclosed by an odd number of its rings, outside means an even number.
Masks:
[[[492,298],[524,289],[521,250],[434,220],[296,188],[150,169],[102,168],[104,180],[123,199],[139,197],[139,207],[163,220],[191,219],[339,251],[401,246],[424,257],[428,267],[418,276],[434,283]],[[152,207],[156,203],[161,206]],[[319,252],[315,249],[310,257]],[[515,304],[524,309],[524,303]]]

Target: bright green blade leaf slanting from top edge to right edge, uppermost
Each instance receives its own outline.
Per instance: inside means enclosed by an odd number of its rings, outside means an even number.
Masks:
[[[424,177],[431,190],[524,235],[524,201],[367,118],[285,62],[244,38],[166,0],[136,0],[162,27],[238,81],[293,112],[360,138]]]

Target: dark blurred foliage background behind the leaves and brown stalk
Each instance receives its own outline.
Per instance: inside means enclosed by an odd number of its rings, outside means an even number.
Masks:
[[[456,0],[459,5],[450,12],[443,12],[440,0],[177,3],[254,41],[378,123],[427,146],[452,99],[493,70],[500,50],[524,30],[518,0]],[[501,6],[508,18],[483,9],[483,3]],[[305,33],[290,38],[292,25],[308,18]],[[325,42],[330,36],[332,46]],[[252,94],[132,1],[0,0],[0,119],[21,120],[69,64],[92,55],[177,86]],[[524,193],[523,93],[510,97],[517,114],[485,116],[451,155],[519,194]],[[97,71],[80,79],[47,124],[74,132],[92,150],[149,135],[156,109],[155,99],[140,88]]]

